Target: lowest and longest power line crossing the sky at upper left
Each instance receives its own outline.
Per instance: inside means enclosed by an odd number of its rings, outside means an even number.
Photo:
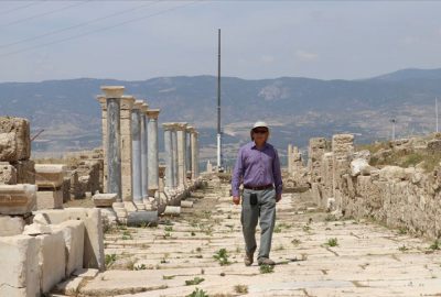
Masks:
[[[201,2],[201,1],[203,1],[203,0],[196,0],[196,1],[193,1],[193,2],[190,2],[190,3],[185,3],[185,4],[182,4],[182,6],[174,7],[174,8],[165,9],[165,10],[162,10],[162,11],[149,14],[149,15],[131,19],[131,20],[128,20],[128,21],[125,21],[125,22],[117,23],[115,25],[110,25],[110,26],[93,30],[93,31],[80,33],[80,34],[77,34],[77,35],[73,35],[73,36],[69,36],[69,37],[66,37],[66,38],[61,38],[61,40],[53,41],[53,42],[50,42],[50,43],[43,43],[43,44],[40,44],[40,45],[36,45],[36,46],[30,46],[30,47],[25,47],[25,48],[22,48],[22,50],[19,50],[19,51],[1,54],[0,57],[11,56],[11,55],[15,55],[15,54],[19,54],[19,53],[32,51],[32,50],[40,48],[40,47],[44,47],[44,46],[47,46],[47,45],[53,45],[53,44],[57,44],[57,43],[62,43],[62,42],[66,42],[66,41],[71,41],[71,40],[75,40],[75,38],[79,38],[79,37],[84,37],[84,36],[87,36],[87,35],[90,35],[90,34],[94,34],[94,33],[97,33],[97,32],[107,31],[107,30],[110,30],[110,29],[114,29],[114,28],[117,28],[117,26],[126,25],[126,24],[129,24],[129,23],[142,21],[142,20],[150,19],[150,18],[153,18],[153,16],[157,16],[157,15],[160,15],[160,14],[164,14],[164,13],[168,13],[168,12],[171,12],[171,11],[175,11],[175,10],[181,9],[181,8],[189,7],[191,4],[194,4],[194,3]]]

